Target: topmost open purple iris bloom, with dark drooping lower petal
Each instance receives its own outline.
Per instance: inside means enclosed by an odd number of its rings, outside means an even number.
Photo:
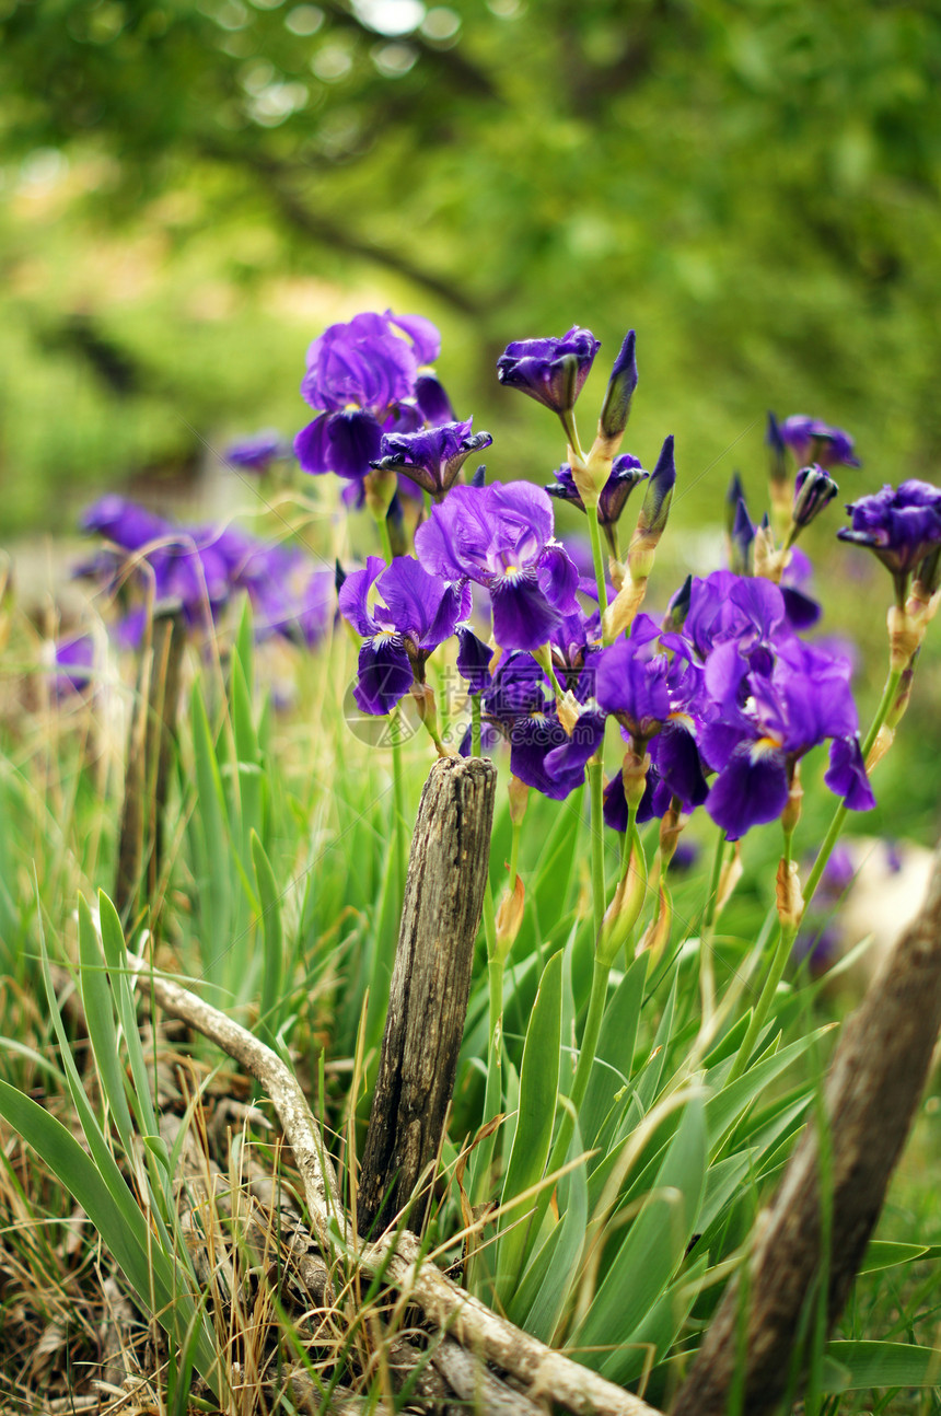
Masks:
[[[304,472],[361,480],[379,457],[383,432],[420,428],[419,368],[439,348],[437,330],[417,314],[357,314],[324,330],[307,351],[300,388],[311,408],[323,409],[294,439]]]

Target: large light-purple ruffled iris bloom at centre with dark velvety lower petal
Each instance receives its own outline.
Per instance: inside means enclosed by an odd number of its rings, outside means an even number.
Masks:
[[[579,573],[553,537],[552,503],[526,481],[454,487],[415,532],[432,575],[490,590],[501,649],[539,649],[577,610]]]

